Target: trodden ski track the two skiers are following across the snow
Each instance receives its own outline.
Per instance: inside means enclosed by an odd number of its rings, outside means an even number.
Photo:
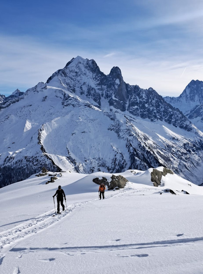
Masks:
[[[125,194],[133,194],[133,193],[139,193],[152,190],[152,188],[141,188],[141,189],[124,189],[120,190],[118,192],[115,192],[105,199],[113,198],[113,197],[120,197]],[[157,191],[157,188],[154,188],[154,190]],[[13,248],[19,241],[23,240],[25,237],[31,237],[34,233],[38,233],[49,226],[55,224],[56,222],[60,221],[61,219],[68,217],[68,215],[75,210],[76,208],[79,208],[80,206],[83,206],[90,202],[96,202],[97,199],[92,201],[85,201],[80,202],[72,205],[68,205],[67,209],[62,212],[61,214],[56,214],[56,216],[53,217],[54,211],[48,211],[42,215],[36,216],[35,218],[31,218],[30,220],[21,223],[18,226],[15,226],[12,229],[8,229],[5,231],[2,231],[0,233],[0,265],[2,264],[3,258],[5,257],[6,253]]]

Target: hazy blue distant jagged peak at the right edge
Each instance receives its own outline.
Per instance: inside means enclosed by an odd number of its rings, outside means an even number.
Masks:
[[[203,82],[192,80],[179,97],[164,97],[165,101],[180,109],[183,114],[203,131]]]

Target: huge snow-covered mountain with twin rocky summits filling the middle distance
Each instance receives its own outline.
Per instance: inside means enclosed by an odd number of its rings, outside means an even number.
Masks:
[[[105,75],[78,56],[0,109],[1,185],[42,166],[117,173],[163,165],[202,183],[203,133],[152,88],[126,84],[118,67]]]

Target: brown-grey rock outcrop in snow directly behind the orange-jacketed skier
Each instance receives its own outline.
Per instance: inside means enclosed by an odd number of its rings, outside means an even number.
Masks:
[[[118,175],[118,176],[112,175],[110,183],[105,177],[102,177],[102,179],[94,178],[93,182],[97,184],[103,183],[104,185],[108,186],[108,190],[111,190],[111,189],[114,189],[115,187],[124,188],[128,180],[121,175]]]

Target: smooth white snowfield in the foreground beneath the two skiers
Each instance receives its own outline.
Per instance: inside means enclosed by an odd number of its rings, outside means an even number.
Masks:
[[[121,173],[130,183],[101,201],[92,179],[106,173],[1,188],[0,273],[203,273],[203,188],[175,174],[153,187],[151,171]],[[67,208],[52,216],[58,185]]]

